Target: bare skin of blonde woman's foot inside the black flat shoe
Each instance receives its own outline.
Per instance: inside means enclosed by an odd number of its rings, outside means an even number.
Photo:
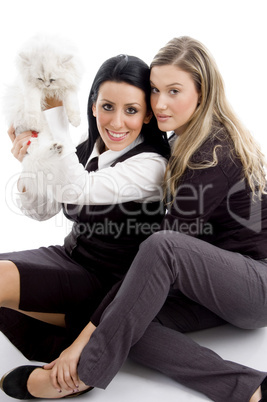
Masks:
[[[35,369],[29,376],[27,382],[27,388],[29,393],[36,398],[44,399],[59,399],[66,395],[74,394],[75,391],[66,391],[62,389],[58,392],[50,382],[50,370],[44,370],[42,368]],[[76,392],[81,392],[88,389],[87,385],[80,382],[79,389]]]

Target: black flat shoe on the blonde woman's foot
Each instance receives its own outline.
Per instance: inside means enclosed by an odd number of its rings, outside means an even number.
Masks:
[[[15,399],[46,399],[46,398],[37,398],[32,396],[27,389],[27,382],[30,374],[33,370],[37,368],[42,368],[41,366],[20,366],[15,368],[14,370],[9,371],[4,374],[0,381],[0,388],[5,392],[8,396],[11,396]],[[84,391],[74,392],[73,394],[63,396],[59,399],[66,398],[74,398],[75,396],[79,396],[89,392],[93,389],[90,387]],[[58,398],[55,398],[58,399]]]

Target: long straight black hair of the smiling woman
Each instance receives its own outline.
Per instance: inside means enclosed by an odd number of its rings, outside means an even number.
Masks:
[[[145,93],[145,99],[148,111],[150,106],[150,69],[148,65],[135,56],[119,55],[106,60],[99,68],[93,81],[88,99],[88,139],[77,147],[77,153],[80,162],[85,164],[93,150],[95,142],[100,137],[96,118],[92,112],[92,106],[96,102],[100,85],[106,81],[126,82],[140,88]],[[143,124],[142,135],[144,141],[152,145],[158,153],[169,157],[170,149],[166,134],[159,130],[157,121],[153,116],[148,124]]]

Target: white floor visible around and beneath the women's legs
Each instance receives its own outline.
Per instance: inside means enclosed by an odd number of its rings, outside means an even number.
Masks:
[[[267,328],[244,331],[224,326],[191,336],[227,360],[234,360],[262,371],[267,370]],[[0,375],[22,364],[34,363],[25,359],[0,333]],[[105,391],[94,389],[72,400],[81,402],[208,401],[206,397],[184,388],[169,378],[130,361],[125,363]],[[14,399],[0,391],[0,401],[12,402]]]

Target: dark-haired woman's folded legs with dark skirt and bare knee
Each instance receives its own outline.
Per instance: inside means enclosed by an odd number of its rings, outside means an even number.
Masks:
[[[60,246],[0,254],[0,275],[0,331],[30,360],[58,357],[108,291]]]

